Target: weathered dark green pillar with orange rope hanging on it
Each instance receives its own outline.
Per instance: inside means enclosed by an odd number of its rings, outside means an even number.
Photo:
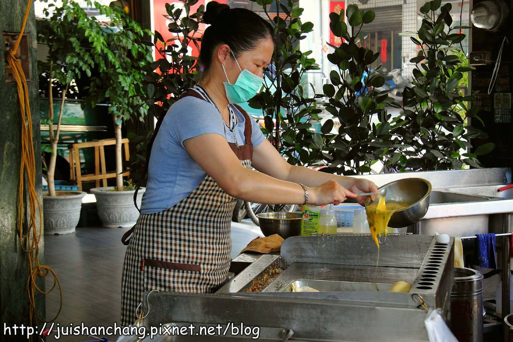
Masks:
[[[16,33],[21,30],[28,0],[0,1],[0,33]],[[31,81],[28,82],[30,109],[32,112],[33,142],[36,164],[36,191],[41,198],[41,137],[38,106],[38,81],[36,65],[36,31],[34,5],[25,29],[28,36],[28,62]],[[27,279],[30,267],[26,253],[22,250],[17,232],[17,202],[19,164],[21,160],[21,118],[15,82],[6,82],[5,44],[0,47],[0,315],[6,327],[15,324],[28,326],[29,300]],[[26,201],[26,200],[25,200]],[[42,203],[42,202],[41,202]],[[27,203],[24,203],[28,208]],[[40,244],[40,260],[44,261],[43,237]],[[37,285],[44,289],[44,279]],[[36,307],[40,317],[45,318],[45,299],[36,294]],[[34,321],[35,323],[35,321]],[[4,325],[0,327],[0,339],[26,341],[18,329],[17,335],[6,335]],[[26,332],[26,331],[25,331]],[[13,333],[13,330],[11,330]],[[34,339],[35,340],[35,339]]]

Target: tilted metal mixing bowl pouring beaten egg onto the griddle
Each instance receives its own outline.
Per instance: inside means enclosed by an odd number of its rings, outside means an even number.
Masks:
[[[401,228],[419,222],[429,207],[429,194],[431,183],[422,178],[405,178],[395,180],[380,187],[386,189],[386,200],[395,200],[399,203],[407,203],[408,206],[392,214],[388,227]],[[374,203],[378,202],[378,198]],[[367,197],[365,205],[371,203]]]

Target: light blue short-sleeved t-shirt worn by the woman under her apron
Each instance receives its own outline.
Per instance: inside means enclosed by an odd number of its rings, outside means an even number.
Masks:
[[[245,145],[245,119],[232,107],[237,117],[237,144]],[[264,140],[257,123],[251,120],[251,143],[257,147]],[[187,153],[184,140],[207,133],[225,136],[234,143],[233,134],[226,128],[218,109],[205,100],[186,96],[177,100],[167,112],[156,135],[148,165],[148,184],[141,213],[150,214],[171,208],[187,197],[207,173]]]

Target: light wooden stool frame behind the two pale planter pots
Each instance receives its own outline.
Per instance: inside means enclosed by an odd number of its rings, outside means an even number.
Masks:
[[[125,150],[125,162],[128,162],[128,160],[130,159],[130,152],[128,150],[128,139],[121,139],[121,143],[123,144]],[[115,144],[116,139],[102,139],[95,140],[92,142],[69,145],[68,148],[70,179],[76,181],[76,185],[78,185],[78,190],[82,191],[82,182],[86,182],[87,180],[95,180],[97,188],[100,187],[100,180],[102,180],[102,186],[106,187],[107,179],[116,177],[115,172],[107,173],[105,166],[105,146]],[[94,173],[82,174],[82,170],[80,167],[80,149],[83,148],[94,148]],[[125,171],[122,175],[129,176],[130,171]]]

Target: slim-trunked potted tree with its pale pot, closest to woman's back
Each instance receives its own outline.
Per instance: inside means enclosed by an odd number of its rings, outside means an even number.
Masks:
[[[143,44],[144,31],[120,8],[110,8],[95,3],[100,14],[109,18],[109,23],[90,22],[89,36],[100,46],[104,65],[97,76],[92,77],[89,102],[109,105],[115,129],[116,186],[93,188],[98,216],[104,227],[131,227],[139,211],[133,204],[135,187],[123,183],[122,124],[129,119],[143,120],[148,106],[141,100],[143,92],[142,68],[151,63],[150,48]],[[141,201],[144,188],[139,191]]]

